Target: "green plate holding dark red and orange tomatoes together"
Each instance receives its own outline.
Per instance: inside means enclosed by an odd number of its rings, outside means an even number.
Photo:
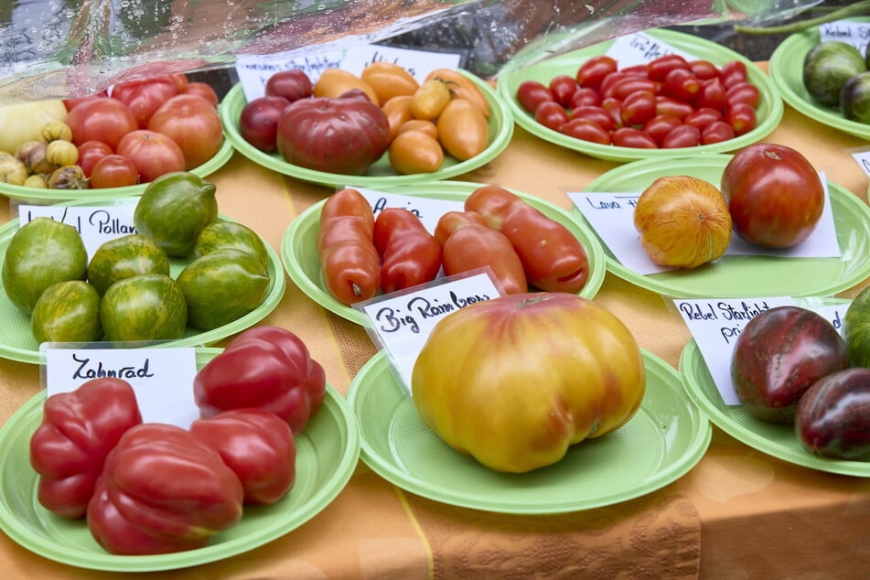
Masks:
[[[463,71],[460,70],[460,72]],[[242,134],[239,133],[239,117],[245,104],[247,104],[241,84],[236,84],[227,93],[227,96],[224,97],[223,102],[226,106],[220,110],[220,118],[223,121],[224,134],[227,135],[227,138],[230,139],[232,145],[239,153],[248,157],[254,163],[273,169],[278,173],[302,179],[303,181],[310,181],[333,188],[350,184],[358,188],[378,188],[381,185],[403,185],[435,179],[447,179],[488,164],[504,151],[505,147],[510,143],[510,136],[513,134],[513,117],[507,106],[501,102],[496,92],[492,90],[489,84],[481,81],[474,75],[465,72],[463,74],[466,74],[471,81],[474,81],[480,91],[483,92],[487,102],[489,102],[489,146],[478,156],[474,156],[466,161],[459,161],[452,156],[445,155],[444,164],[440,169],[432,173],[412,175],[396,173],[392,169],[392,166],[390,166],[390,160],[386,153],[361,176],[339,175],[306,169],[306,167],[287,163],[284,157],[278,153],[265,153],[245,141]]]

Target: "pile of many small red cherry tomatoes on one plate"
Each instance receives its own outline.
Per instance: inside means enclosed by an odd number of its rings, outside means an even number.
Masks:
[[[721,67],[676,54],[620,69],[607,55],[546,82],[523,81],[517,101],[535,121],[600,145],[710,145],[752,131],[760,101],[740,60]]]

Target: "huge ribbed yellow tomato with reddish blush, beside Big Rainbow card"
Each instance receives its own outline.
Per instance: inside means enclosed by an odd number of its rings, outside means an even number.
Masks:
[[[447,315],[411,381],[417,411],[447,445],[514,473],[625,424],[646,388],[628,328],[567,293],[506,295]]]

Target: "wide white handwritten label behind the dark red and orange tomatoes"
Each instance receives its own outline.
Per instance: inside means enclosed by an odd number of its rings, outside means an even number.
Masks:
[[[245,99],[251,102],[265,94],[266,81],[280,70],[303,70],[314,83],[327,69],[347,70],[360,76],[362,70],[371,63],[383,61],[401,65],[414,79],[422,83],[432,70],[456,69],[459,66],[459,55],[372,44],[319,49],[306,47],[269,55],[237,55],[236,73],[242,83]]]

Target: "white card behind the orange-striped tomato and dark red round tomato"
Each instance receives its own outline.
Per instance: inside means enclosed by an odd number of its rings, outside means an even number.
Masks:
[[[828,183],[822,175],[825,204],[822,217],[809,238],[800,244],[782,250],[762,248],[746,242],[740,236],[731,236],[725,255],[768,255],[780,258],[838,258],[840,243],[834,226]],[[653,263],[640,245],[634,228],[634,207],[639,193],[568,192],[567,196],[595,229],[619,263],[638,274],[656,274],[671,268]]]

